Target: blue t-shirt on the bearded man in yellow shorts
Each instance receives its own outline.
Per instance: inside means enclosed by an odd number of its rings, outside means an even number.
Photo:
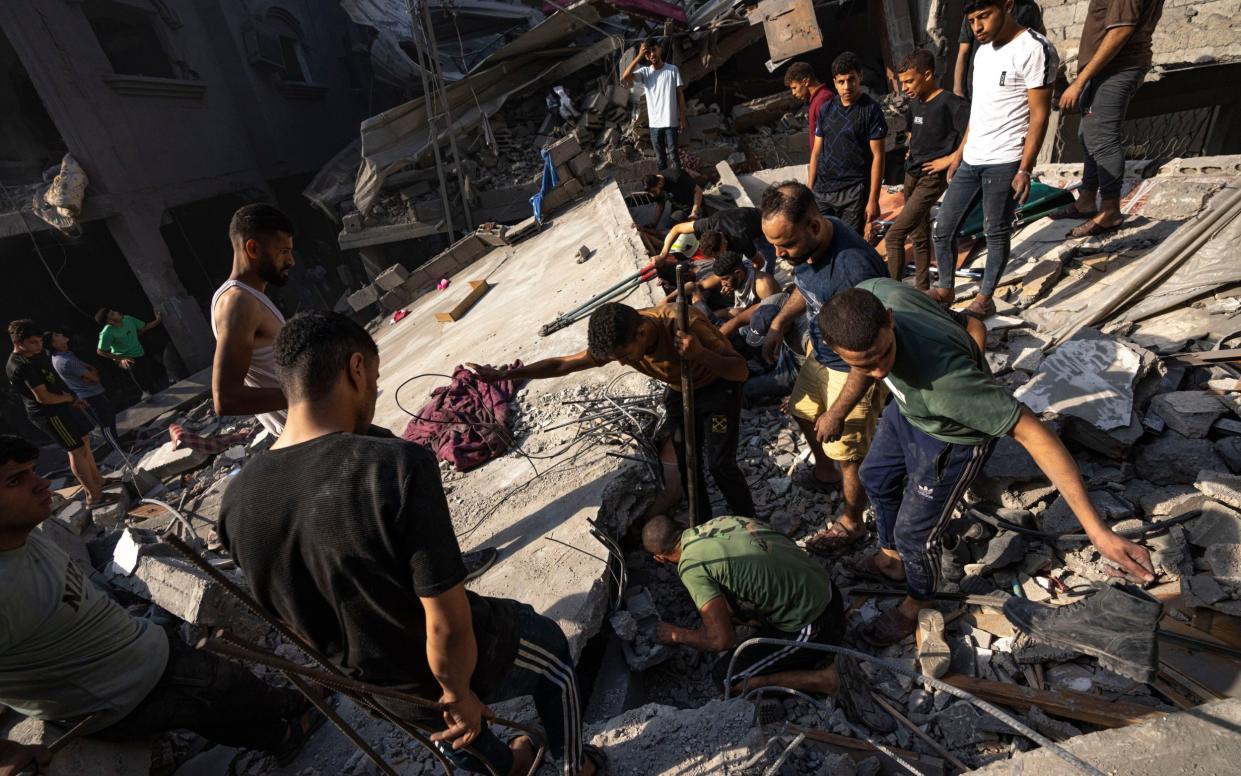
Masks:
[[[831,216],[828,216],[828,221],[831,222],[831,242],[828,243],[828,250],[823,256],[812,259],[814,263],[805,262],[794,267],[793,282],[805,299],[814,358],[828,369],[849,371],[849,365],[823,341],[819,310],[828,299],[862,281],[886,278],[887,266],[875,248],[859,237],[858,232],[845,226],[844,221]]]

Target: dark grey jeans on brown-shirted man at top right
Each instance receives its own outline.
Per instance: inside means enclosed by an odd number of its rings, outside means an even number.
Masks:
[[[1144,67],[1134,67],[1091,78],[1082,93],[1082,123],[1077,129],[1086,151],[1082,189],[1098,191],[1104,200],[1121,199],[1121,184],[1124,183],[1121,124],[1145,74]]]

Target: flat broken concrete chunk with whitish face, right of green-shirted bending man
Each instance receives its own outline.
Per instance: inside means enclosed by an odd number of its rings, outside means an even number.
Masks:
[[[1133,384],[1143,356],[1095,329],[1082,329],[1047,355],[1029,382],[1014,391],[1035,413],[1056,412],[1109,431],[1133,416]]]

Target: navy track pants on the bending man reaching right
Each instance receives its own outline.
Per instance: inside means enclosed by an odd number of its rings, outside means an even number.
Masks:
[[[992,457],[983,444],[941,442],[915,428],[895,401],[884,410],[861,485],[879,525],[879,546],[901,554],[910,596],[928,601],[939,584],[939,539],[952,512]]]

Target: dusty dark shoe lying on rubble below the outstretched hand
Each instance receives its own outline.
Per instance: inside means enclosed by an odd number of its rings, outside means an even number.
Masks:
[[[1109,585],[1069,606],[1011,597],[1004,616],[1035,641],[1095,656],[1103,668],[1134,682],[1154,680],[1163,605],[1133,585]]]

